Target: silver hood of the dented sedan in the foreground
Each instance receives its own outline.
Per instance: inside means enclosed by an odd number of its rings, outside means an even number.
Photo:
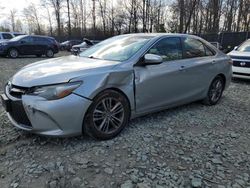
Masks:
[[[33,87],[68,82],[97,71],[107,71],[119,62],[66,56],[48,59],[23,67],[10,80],[13,85]]]

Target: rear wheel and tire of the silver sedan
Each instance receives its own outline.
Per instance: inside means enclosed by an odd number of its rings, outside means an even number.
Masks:
[[[217,104],[223,94],[224,86],[225,80],[223,77],[219,75],[216,76],[209,86],[207,96],[203,100],[203,103],[209,106]]]

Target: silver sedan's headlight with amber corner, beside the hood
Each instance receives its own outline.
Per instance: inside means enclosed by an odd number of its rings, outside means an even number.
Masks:
[[[43,97],[47,100],[56,100],[70,95],[81,84],[82,82],[72,82],[66,84],[37,87],[30,94]]]

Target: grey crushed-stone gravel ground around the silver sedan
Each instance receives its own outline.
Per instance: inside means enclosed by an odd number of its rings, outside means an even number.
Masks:
[[[65,54],[59,54],[65,55]],[[0,58],[0,88],[45,58]],[[250,82],[216,106],[192,103],[134,119],[115,139],[46,138],[14,128],[0,107],[0,187],[250,188]]]

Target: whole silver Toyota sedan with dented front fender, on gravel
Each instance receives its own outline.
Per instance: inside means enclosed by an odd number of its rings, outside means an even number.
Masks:
[[[120,35],[79,56],[22,68],[1,99],[20,129],[110,139],[131,118],[198,100],[215,105],[230,84],[231,64],[196,36]]]

